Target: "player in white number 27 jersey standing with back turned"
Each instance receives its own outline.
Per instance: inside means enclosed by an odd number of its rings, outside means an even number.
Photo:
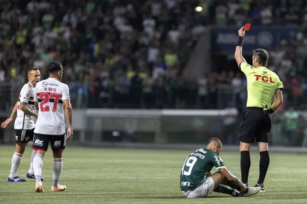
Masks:
[[[33,168],[36,179],[35,192],[44,193],[41,182],[43,156],[48,150],[50,141],[53,152],[53,184],[51,191],[64,191],[66,186],[58,182],[62,174],[62,154],[66,139],[72,139],[72,106],[69,99],[69,89],[59,80],[63,68],[60,62],[54,61],[48,65],[49,78],[36,84],[34,93],[35,108],[38,118],[34,129],[32,148],[35,151]],[[64,114],[68,121],[67,136],[65,134]]]

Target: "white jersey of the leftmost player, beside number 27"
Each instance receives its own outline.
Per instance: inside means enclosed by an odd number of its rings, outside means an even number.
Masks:
[[[21,129],[29,130],[35,127],[35,123],[33,120],[34,117],[26,115],[21,109],[19,109],[20,103],[24,102],[27,104],[26,106],[30,110],[32,110],[33,113],[35,113],[36,109],[35,109],[34,100],[33,100],[34,91],[35,91],[35,88],[29,82],[23,85],[23,87],[21,88],[19,98],[18,98],[18,104],[17,104],[17,118],[14,123],[15,130],[21,130]]]

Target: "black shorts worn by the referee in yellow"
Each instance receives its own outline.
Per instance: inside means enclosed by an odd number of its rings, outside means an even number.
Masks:
[[[245,143],[269,142],[272,117],[263,114],[263,108],[247,107],[239,126],[240,141]]]

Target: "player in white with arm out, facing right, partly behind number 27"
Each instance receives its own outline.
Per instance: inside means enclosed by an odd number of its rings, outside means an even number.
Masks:
[[[16,140],[16,148],[12,158],[12,166],[11,172],[8,177],[9,182],[15,181],[25,181],[16,175],[18,167],[20,165],[21,156],[25,152],[25,146],[29,141],[33,140],[34,136],[34,127],[35,123],[33,121],[34,118],[37,118],[37,114],[35,113],[36,109],[34,107],[34,90],[35,85],[41,79],[41,74],[37,67],[32,67],[27,70],[28,80],[19,95],[19,99],[16,102],[16,105],[12,111],[11,117],[8,118],[1,124],[2,128],[6,128],[10,125],[17,113],[17,118],[15,120],[14,129],[16,130],[15,140]],[[27,177],[34,179],[34,170],[33,170],[33,157],[35,151],[32,151],[30,169],[27,172]],[[44,180],[41,178],[41,180]]]

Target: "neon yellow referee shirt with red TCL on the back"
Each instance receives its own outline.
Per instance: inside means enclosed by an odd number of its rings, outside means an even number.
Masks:
[[[247,107],[263,108],[267,104],[271,108],[271,102],[276,89],[282,89],[282,82],[275,72],[266,67],[257,67],[242,62],[241,71],[247,78]]]

